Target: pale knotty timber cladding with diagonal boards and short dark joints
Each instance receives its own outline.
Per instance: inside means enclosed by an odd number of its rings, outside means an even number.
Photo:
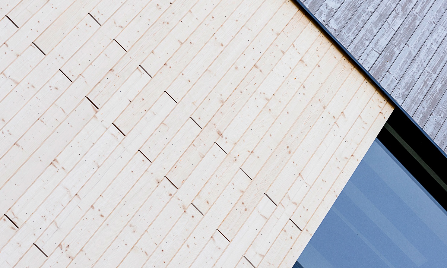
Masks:
[[[2,268],[291,267],[393,109],[291,0],[1,5]]]

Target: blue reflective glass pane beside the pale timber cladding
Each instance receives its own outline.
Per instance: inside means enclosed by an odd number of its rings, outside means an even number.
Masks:
[[[375,140],[294,268],[445,268],[447,213]]]

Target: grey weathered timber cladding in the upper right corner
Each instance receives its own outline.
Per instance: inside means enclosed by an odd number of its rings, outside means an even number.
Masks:
[[[447,151],[447,0],[303,0]]]

